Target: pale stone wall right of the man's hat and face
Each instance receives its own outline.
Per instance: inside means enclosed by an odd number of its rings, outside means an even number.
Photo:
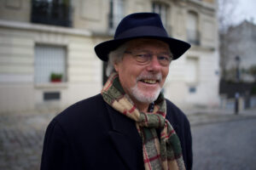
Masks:
[[[174,19],[173,36],[186,41],[186,28],[189,12],[198,16],[198,30],[200,32],[200,44],[191,43],[192,47],[177,61],[173,61],[170,67],[169,77],[165,85],[167,98],[171,99],[181,108],[195,105],[218,106],[218,26],[215,3],[207,4],[190,1],[177,10]],[[182,20],[179,23],[178,20]],[[177,23],[177,25],[175,24]],[[178,26],[180,24],[180,26]],[[179,29],[181,28],[181,29]],[[196,59],[196,73],[188,71],[189,59]],[[196,77],[195,81],[189,77]]]

